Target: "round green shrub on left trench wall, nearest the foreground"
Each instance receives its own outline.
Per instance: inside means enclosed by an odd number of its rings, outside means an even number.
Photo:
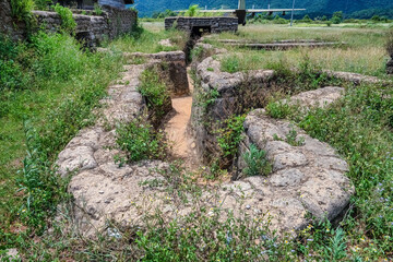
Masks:
[[[164,134],[143,119],[135,118],[130,123],[120,123],[116,129],[116,143],[127,155],[129,163],[143,159],[164,159],[167,144]]]

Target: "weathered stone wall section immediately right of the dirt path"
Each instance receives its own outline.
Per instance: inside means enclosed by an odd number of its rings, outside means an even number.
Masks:
[[[202,158],[209,160],[216,151],[214,129],[231,115],[240,115],[248,108],[262,107],[270,94],[274,78],[273,70],[255,70],[250,72],[227,73],[221,71],[221,55],[217,60],[209,57],[196,67],[196,76],[201,86],[194,87],[191,128],[196,140],[196,151]],[[209,105],[201,97],[215,95]],[[210,99],[210,98],[209,98]],[[209,122],[209,124],[206,124]],[[206,154],[204,157],[203,154]]]

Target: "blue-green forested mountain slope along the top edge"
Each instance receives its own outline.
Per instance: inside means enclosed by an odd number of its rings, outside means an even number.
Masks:
[[[293,0],[247,0],[247,8],[291,8]],[[191,4],[199,4],[207,9],[237,8],[238,0],[135,0],[136,10],[140,16],[151,16],[153,12],[160,12],[167,9],[183,10]],[[393,9],[392,0],[302,0],[296,1],[296,8],[306,8],[308,14],[331,14],[335,11],[343,11],[346,14],[365,9]]]

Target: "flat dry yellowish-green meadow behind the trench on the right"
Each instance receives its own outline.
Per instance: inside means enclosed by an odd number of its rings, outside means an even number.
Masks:
[[[287,25],[240,26],[237,34],[224,33],[211,41],[229,50],[225,63],[236,62],[238,71],[270,69],[272,64],[285,63],[298,68],[306,59],[314,68],[374,75],[386,79],[385,51],[388,29],[337,27],[289,27]],[[344,45],[322,48],[295,48],[287,51],[249,50],[225,46],[216,39],[247,39],[255,43],[273,43],[286,39],[315,39],[337,41]],[[238,60],[238,61],[235,61]],[[236,66],[236,64],[235,64]]]

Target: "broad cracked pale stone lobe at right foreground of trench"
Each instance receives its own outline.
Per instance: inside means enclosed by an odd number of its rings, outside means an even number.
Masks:
[[[285,142],[289,130],[297,131],[297,140],[305,144],[294,146]],[[334,219],[349,203],[354,187],[345,176],[348,165],[334,150],[283,120],[275,120],[258,109],[245,122],[245,140],[239,146],[235,179],[248,181],[257,190],[251,206],[270,212],[273,227],[300,229],[308,224],[306,214]],[[284,141],[275,141],[279,138]],[[266,152],[273,172],[266,177],[243,178],[247,167],[243,154],[250,144]],[[317,148],[314,148],[317,147]]]

